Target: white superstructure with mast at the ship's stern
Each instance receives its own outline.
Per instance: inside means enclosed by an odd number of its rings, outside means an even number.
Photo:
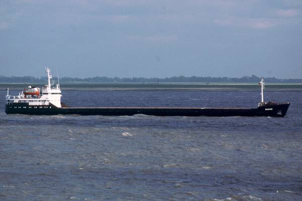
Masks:
[[[61,108],[61,90],[59,84],[53,84],[52,76],[50,73],[50,69],[48,67],[45,67],[45,72],[48,76],[48,84],[45,85],[45,87],[42,88],[42,91],[40,93],[32,92],[32,90],[28,91],[22,91],[19,93],[19,95],[9,95],[6,96],[6,102],[8,105],[13,103],[28,103],[29,107],[43,107],[48,106],[49,103],[52,105]],[[31,88],[31,87],[29,87]],[[38,88],[39,89],[39,88]],[[40,90],[40,89],[39,89]]]

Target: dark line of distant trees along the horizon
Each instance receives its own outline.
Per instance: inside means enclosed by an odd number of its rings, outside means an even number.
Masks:
[[[56,78],[54,77],[54,80]],[[70,82],[200,82],[200,83],[210,83],[210,82],[227,82],[227,83],[255,83],[259,82],[260,77],[256,75],[237,77],[185,77],[185,76],[173,76],[166,78],[144,78],[144,77],[130,77],[130,78],[120,78],[120,77],[88,77],[88,78],[78,78],[78,77],[61,77],[61,83]],[[47,77],[33,77],[33,76],[1,76],[0,82],[2,83],[44,83],[47,81]],[[266,82],[271,83],[302,83],[302,79],[278,79],[275,77],[266,77]]]

